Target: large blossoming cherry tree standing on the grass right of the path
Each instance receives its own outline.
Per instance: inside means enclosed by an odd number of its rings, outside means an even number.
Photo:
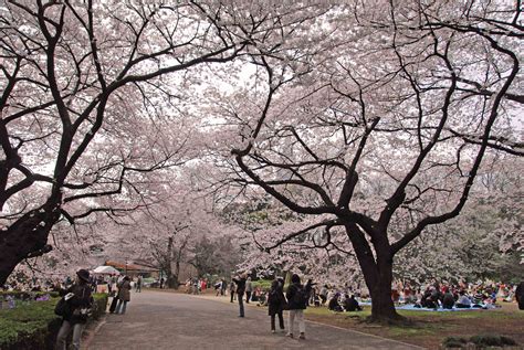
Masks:
[[[253,56],[258,88],[222,106],[239,126],[237,183],[305,216],[260,248],[344,238],[371,319],[399,319],[396,255],[461,213],[489,152],[522,156],[520,15],[520,2],[355,2],[307,49]]]

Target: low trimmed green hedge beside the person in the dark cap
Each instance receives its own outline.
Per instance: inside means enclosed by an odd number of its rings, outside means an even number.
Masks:
[[[94,294],[96,306],[90,321],[106,309],[107,295]],[[18,301],[13,309],[0,310],[0,349],[53,349],[62,318],[54,315],[59,298],[49,301]]]

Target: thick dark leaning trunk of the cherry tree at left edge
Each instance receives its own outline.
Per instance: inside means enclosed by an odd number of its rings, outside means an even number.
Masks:
[[[59,214],[32,211],[0,231],[0,286],[23,259],[51,251],[48,236]]]

